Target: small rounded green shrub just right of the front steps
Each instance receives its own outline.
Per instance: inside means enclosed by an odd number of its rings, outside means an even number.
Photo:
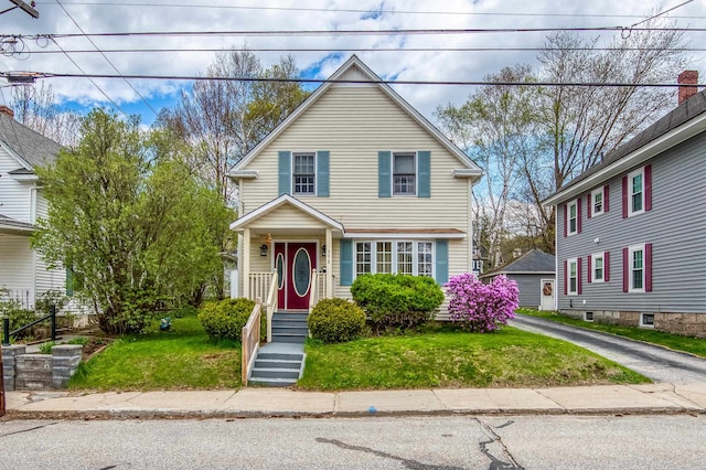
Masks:
[[[322,299],[309,313],[309,331],[324,343],[342,343],[361,335],[365,312],[345,299]]]

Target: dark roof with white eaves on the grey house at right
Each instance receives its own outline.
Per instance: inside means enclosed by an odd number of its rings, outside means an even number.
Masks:
[[[558,204],[706,130],[706,90],[686,99],[543,201]]]

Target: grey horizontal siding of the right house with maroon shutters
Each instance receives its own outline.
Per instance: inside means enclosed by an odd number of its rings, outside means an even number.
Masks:
[[[606,311],[607,317],[614,318],[619,312],[706,313],[706,133],[646,163],[652,164],[652,211],[622,218],[622,174],[607,183],[610,211],[606,214],[587,218],[587,193],[581,194],[580,234],[564,237],[564,203],[558,205],[557,289],[561,311]],[[622,248],[641,243],[652,243],[653,290],[623,292]],[[586,257],[597,252],[610,253],[610,280],[588,284]],[[564,295],[564,261],[573,257],[582,258],[580,296]]]

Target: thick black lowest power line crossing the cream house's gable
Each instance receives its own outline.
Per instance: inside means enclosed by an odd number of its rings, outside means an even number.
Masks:
[[[12,72],[17,73],[17,72]],[[0,76],[7,77],[10,72],[1,72]],[[621,82],[489,82],[489,81],[364,81],[364,79],[320,79],[320,78],[264,78],[264,77],[222,77],[222,76],[183,76],[183,75],[110,75],[110,74],[63,74],[63,73],[33,73],[35,78],[118,78],[118,79],[165,79],[188,82],[259,82],[259,83],[302,83],[302,84],[384,84],[384,85],[445,85],[445,86],[574,86],[574,87],[648,87],[648,88],[676,88],[674,83],[621,83]],[[706,84],[691,85],[703,87]],[[113,103],[113,102],[111,102]]]

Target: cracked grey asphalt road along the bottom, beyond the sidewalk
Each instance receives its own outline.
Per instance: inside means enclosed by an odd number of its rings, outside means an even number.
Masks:
[[[0,421],[0,469],[704,468],[706,416]]]

